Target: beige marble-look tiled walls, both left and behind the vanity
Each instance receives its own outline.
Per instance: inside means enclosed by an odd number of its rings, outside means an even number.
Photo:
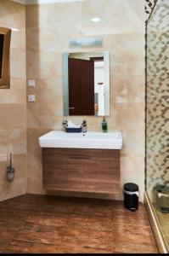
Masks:
[[[146,1],[147,15],[154,2]],[[0,90],[0,200],[25,193],[26,127],[27,191],[45,193],[42,189],[42,157],[37,138],[46,131],[62,129],[61,55],[70,51],[70,39],[95,35],[101,35],[104,39],[103,47],[96,50],[110,51],[111,112],[108,125],[110,131],[121,130],[123,133],[121,191],[123,183],[138,183],[140,200],[143,200],[144,2],[121,0],[121,4],[123,9],[119,0],[86,0],[85,3],[33,5],[26,8],[27,78],[36,79],[37,82],[34,90],[27,90],[27,93],[36,94],[37,102],[26,106],[25,6],[0,1],[0,26],[19,29],[19,32],[12,32],[11,89]],[[90,15],[104,15],[106,22],[96,26],[90,23]],[[87,119],[89,131],[100,131],[101,118],[73,118],[76,123],[81,123],[82,119]],[[11,151],[14,152],[16,169],[14,183],[6,181],[5,172],[7,154]],[[118,198],[121,197],[122,193]]]

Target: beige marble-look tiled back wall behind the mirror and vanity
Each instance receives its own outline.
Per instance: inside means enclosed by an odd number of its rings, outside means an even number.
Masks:
[[[123,8],[121,8],[121,6]],[[100,24],[92,24],[100,16]],[[43,194],[42,155],[37,138],[62,129],[62,62],[72,51],[72,38],[101,35],[110,51],[109,131],[120,130],[121,190],[123,183],[138,183],[140,201],[144,193],[144,1],[85,0],[26,7],[27,79],[35,79],[37,102],[27,103],[27,192]],[[84,49],[80,49],[84,50]],[[76,124],[87,119],[88,131],[100,131],[101,118],[74,117]],[[122,198],[122,193],[116,196]]]

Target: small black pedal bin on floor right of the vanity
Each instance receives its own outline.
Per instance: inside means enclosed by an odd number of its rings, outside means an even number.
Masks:
[[[124,207],[134,212],[138,210],[138,185],[126,183],[124,185]]]

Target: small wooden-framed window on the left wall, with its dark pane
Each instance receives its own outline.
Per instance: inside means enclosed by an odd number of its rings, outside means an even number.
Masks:
[[[0,88],[10,87],[10,37],[11,30],[0,27]]]

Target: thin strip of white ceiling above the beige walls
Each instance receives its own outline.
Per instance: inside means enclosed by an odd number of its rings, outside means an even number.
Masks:
[[[83,0],[11,0],[11,1],[28,5],[28,4],[46,4],[46,3],[82,2]]]

